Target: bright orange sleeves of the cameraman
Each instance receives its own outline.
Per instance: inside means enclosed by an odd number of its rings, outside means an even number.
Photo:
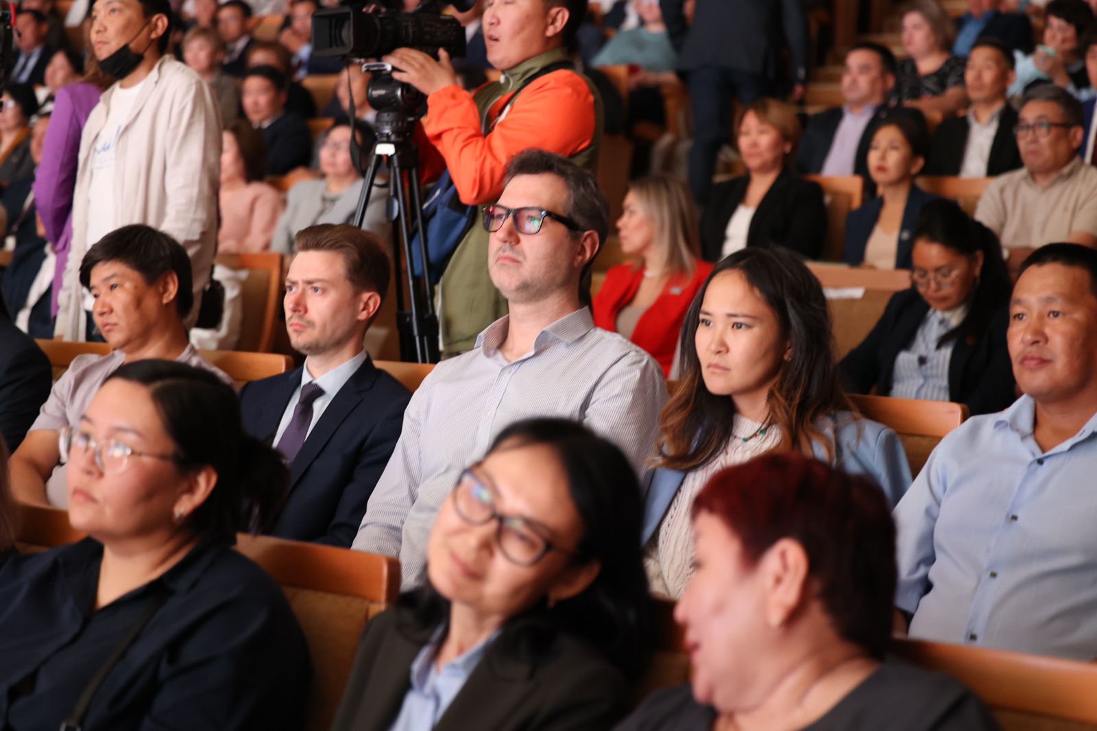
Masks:
[[[498,113],[510,97],[496,102]],[[484,136],[476,102],[459,87],[446,87],[427,100],[422,128],[445,158],[461,202],[490,203],[502,192],[507,161],[530,147],[570,157],[595,137],[595,98],[581,76],[554,71],[533,81]]]

